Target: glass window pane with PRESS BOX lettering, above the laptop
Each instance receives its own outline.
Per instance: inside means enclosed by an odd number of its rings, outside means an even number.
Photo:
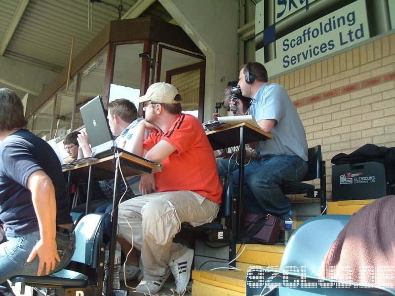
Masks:
[[[108,49],[102,51],[79,72],[80,82],[77,93],[76,114],[72,126],[73,130],[83,125],[79,108],[97,95],[103,96],[107,53]]]

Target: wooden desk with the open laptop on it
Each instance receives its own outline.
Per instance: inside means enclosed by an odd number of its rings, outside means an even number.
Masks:
[[[109,262],[114,262],[115,248],[117,243],[117,224],[118,224],[118,203],[120,199],[119,184],[121,182],[121,173],[123,177],[131,177],[143,174],[157,173],[162,170],[162,166],[151,161],[141,159],[123,152],[115,153],[114,155],[106,156],[87,163],[76,165],[75,167],[63,170],[69,173],[69,192],[71,187],[71,178],[77,178],[77,182],[88,183],[88,193],[86,200],[86,213],[90,208],[90,201],[92,200],[92,183],[95,181],[114,179],[114,195],[113,195],[113,222],[111,232],[111,244],[109,251]],[[114,279],[114,264],[109,264],[109,272],[107,277],[107,291],[106,295],[111,295],[113,292]]]

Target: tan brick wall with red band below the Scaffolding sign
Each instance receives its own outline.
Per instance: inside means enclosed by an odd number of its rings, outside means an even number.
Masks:
[[[395,146],[395,34],[269,82],[288,91],[309,147],[322,146],[328,200],[334,155],[367,143]]]

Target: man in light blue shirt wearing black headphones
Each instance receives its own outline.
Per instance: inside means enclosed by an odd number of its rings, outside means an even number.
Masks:
[[[246,114],[252,114],[261,129],[274,136],[255,143],[259,158],[245,165],[243,210],[267,212],[285,219],[291,210],[291,201],[279,185],[285,180],[300,181],[307,173],[305,129],[285,89],[268,83],[268,73],[262,64],[243,65],[237,85],[244,97],[252,98]],[[237,103],[239,110],[243,110],[242,102],[237,100]],[[217,159],[217,168],[223,175],[237,170],[238,166],[233,160]],[[237,182],[235,180],[236,185]]]

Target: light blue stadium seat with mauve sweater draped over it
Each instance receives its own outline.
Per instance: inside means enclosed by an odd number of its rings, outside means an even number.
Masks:
[[[249,268],[245,295],[395,296],[394,289],[318,277],[322,259],[350,218],[323,215],[303,222],[288,241],[279,268]]]

